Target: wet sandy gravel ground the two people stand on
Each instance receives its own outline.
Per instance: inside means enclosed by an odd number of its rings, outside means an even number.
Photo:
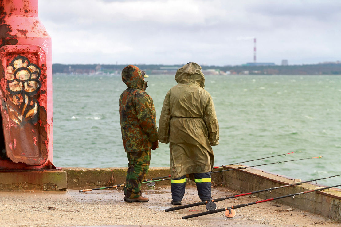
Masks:
[[[212,188],[212,197],[240,194],[228,188]],[[340,222],[321,215],[291,208],[276,202],[265,202],[236,209],[237,215],[227,219],[224,212],[182,220],[182,216],[207,211],[205,206],[165,212],[170,205],[170,187],[144,189],[147,203],[128,203],[121,189],[78,193],[0,191],[0,227],[59,226],[341,226]],[[217,208],[260,200],[257,196],[217,203]],[[198,202],[195,186],[186,186],[182,204]]]

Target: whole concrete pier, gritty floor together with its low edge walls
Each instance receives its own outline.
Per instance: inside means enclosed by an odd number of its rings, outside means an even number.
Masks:
[[[237,166],[224,166],[224,169]],[[238,166],[239,167],[239,166]],[[223,168],[215,169],[220,171]],[[51,175],[54,174],[54,176]],[[36,181],[38,172],[26,172],[18,178],[15,172],[0,172],[0,189],[24,191],[0,191],[0,227],[2,226],[341,226],[341,190],[330,189],[282,200],[236,209],[237,216],[226,219],[224,213],[216,213],[189,220],[181,217],[206,211],[205,206],[164,212],[172,207],[170,181],[156,182],[151,189],[143,184],[146,204],[128,203],[123,200],[123,190],[109,189],[79,193],[79,189],[98,188],[125,181],[127,168],[63,168],[52,171]],[[147,178],[167,176],[169,168],[150,168]],[[41,175],[41,176],[43,176]],[[16,183],[13,179],[17,178]],[[30,181],[27,179],[31,178]],[[25,181],[25,179],[27,181]],[[27,184],[35,180],[36,185]],[[58,184],[57,179],[60,179]],[[63,180],[61,180],[63,179]],[[302,179],[303,181],[306,179]],[[64,190],[47,192],[43,190]],[[11,183],[12,182],[12,183]],[[248,168],[223,173],[212,173],[212,197],[220,198],[293,183],[293,179],[260,169]],[[37,186],[39,185],[39,186]],[[293,194],[323,185],[305,183],[261,194],[237,197],[217,203],[217,208],[259,201],[266,198]],[[34,192],[33,192],[34,189]],[[193,181],[186,181],[183,204],[198,202]]]

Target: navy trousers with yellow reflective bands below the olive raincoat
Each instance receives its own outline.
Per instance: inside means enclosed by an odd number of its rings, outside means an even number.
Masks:
[[[194,181],[199,198],[202,201],[211,200],[211,172],[194,173]],[[174,202],[181,201],[185,194],[186,175],[174,178],[172,181],[172,199]]]

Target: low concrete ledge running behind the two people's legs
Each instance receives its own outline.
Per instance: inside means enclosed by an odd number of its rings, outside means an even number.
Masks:
[[[122,184],[125,182],[128,168],[62,168],[67,173],[68,189],[87,189],[106,187],[109,185]],[[214,169],[219,171],[222,168]],[[155,177],[169,176],[168,167],[149,168],[147,179]],[[222,173],[212,174],[212,181],[217,184],[222,183]],[[157,181],[158,185],[170,185],[169,180]],[[188,182],[194,183],[194,182]]]

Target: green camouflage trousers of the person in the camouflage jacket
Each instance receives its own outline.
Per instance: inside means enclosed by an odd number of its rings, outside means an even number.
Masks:
[[[149,170],[150,151],[127,152],[129,163],[124,195],[128,198],[137,198],[141,195],[141,184]]]

